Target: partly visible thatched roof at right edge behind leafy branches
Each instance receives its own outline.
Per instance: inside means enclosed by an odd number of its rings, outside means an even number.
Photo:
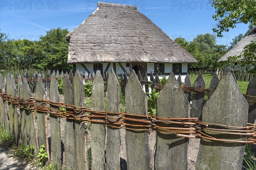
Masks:
[[[227,61],[230,56],[239,56],[244,51],[244,47],[252,42],[256,42],[256,27],[253,28],[242,40],[240,40],[230,51],[227,51],[224,56],[222,56],[218,62]]]

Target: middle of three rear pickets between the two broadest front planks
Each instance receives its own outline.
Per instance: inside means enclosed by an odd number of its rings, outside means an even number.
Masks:
[[[201,73],[198,74],[198,77],[196,78],[193,87],[205,88],[204,79]],[[190,116],[201,117],[203,106],[204,106],[204,94],[193,94]]]

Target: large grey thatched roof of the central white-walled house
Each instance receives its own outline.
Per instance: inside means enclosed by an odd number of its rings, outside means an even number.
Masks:
[[[98,3],[98,8],[66,36],[68,63],[196,63],[136,6]]]

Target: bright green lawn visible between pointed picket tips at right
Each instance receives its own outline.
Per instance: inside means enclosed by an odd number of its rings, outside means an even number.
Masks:
[[[189,76],[190,76],[190,80],[191,80],[191,87],[193,87],[194,82],[195,82],[196,78],[198,77],[198,74],[190,74]],[[211,75],[211,74],[204,75],[203,74],[202,76],[204,78],[205,87],[210,88],[210,83],[211,83],[213,75]],[[239,85],[239,89],[242,92],[242,94],[246,94],[246,90],[247,90],[247,86],[248,86],[249,82],[239,80],[239,81],[237,81],[237,83]]]

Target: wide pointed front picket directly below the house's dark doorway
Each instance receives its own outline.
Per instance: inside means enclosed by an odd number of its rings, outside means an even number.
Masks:
[[[129,77],[125,87],[125,112],[127,114],[144,115],[148,114],[147,96],[136,76],[134,70]],[[134,118],[134,116],[126,116]],[[142,117],[145,120],[144,117]],[[128,124],[134,122],[126,121]],[[131,126],[126,126],[132,128]],[[136,128],[136,127],[135,127]],[[141,127],[138,127],[141,128]],[[148,133],[146,131],[136,131],[125,129],[125,146],[127,157],[127,169],[129,170],[151,170],[151,153],[148,144]]]

